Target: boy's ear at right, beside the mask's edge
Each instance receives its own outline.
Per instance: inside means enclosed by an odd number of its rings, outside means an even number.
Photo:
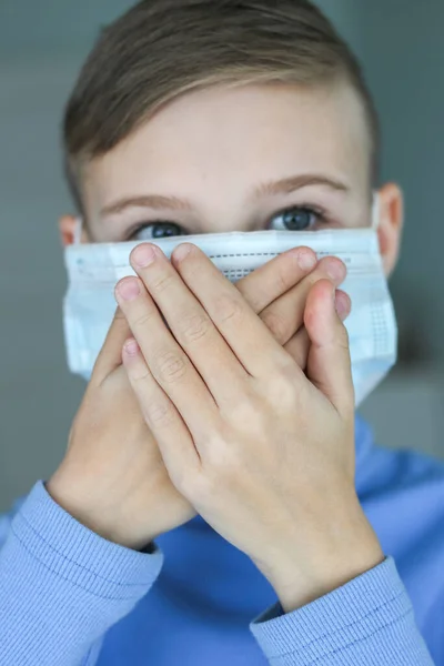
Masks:
[[[404,224],[403,193],[395,183],[386,183],[380,192],[377,235],[386,276],[393,272],[400,253]]]

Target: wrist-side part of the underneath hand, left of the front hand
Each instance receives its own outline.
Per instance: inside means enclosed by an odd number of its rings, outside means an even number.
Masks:
[[[142,549],[195,509],[171,484],[121,364],[130,335],[118,309],[48,492],[80,523]]]

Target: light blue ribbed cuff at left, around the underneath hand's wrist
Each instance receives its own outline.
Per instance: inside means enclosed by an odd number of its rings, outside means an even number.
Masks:
[[[52,500],[42,481],[23,502],[11,531],[52,573],[102,598],[140,598],[163,564],[155,544],[151,553],[139,553],[81,525]]]

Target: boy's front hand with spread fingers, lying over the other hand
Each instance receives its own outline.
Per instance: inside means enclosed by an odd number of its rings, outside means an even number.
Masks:
[[[255,562],[284,608],[307,603],[383,558],[354,488],[354,395],[334,286],[320,280],[307,297],[305,376],[198,248],[180,245],[172,262],[139,245],[139,278],[117,286],[134,336],[123,351],[129,380],[179,492]]]

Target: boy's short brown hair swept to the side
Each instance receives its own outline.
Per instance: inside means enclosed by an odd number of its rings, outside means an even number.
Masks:
[[[345,80],[356,91],[377,179],[380,123],[362,69],[309,0],[142,0],[107,27],[83,64],[63,121],[69,184],[162,105],[214,84]],[[371,183],[373,184],[373,183]]]

